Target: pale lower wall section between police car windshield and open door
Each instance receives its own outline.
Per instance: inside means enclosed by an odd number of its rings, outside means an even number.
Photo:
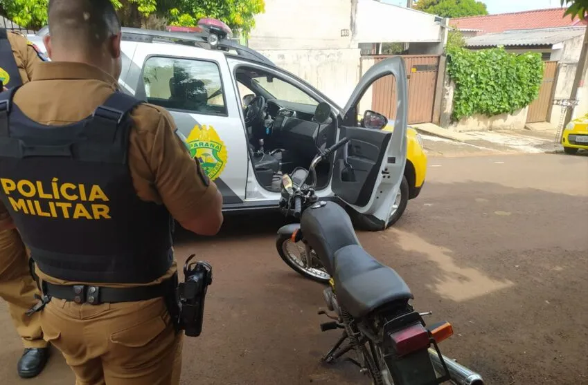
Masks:
[[[332,50],[260,50],[278,67],[318,88],[345,106],[359,82],[359,48]]]

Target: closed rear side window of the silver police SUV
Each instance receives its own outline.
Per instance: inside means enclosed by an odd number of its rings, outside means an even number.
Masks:
[[[145,96],[166,109],[226,115],[216,63],[176,57],[150,57],[143,68]]]

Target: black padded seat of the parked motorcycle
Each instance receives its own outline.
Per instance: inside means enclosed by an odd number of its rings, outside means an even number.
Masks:
[[[333,279],[339,304],[354,318],[364,317],[386,303],[414,298],[397,272],[359,245],[335,252]]]

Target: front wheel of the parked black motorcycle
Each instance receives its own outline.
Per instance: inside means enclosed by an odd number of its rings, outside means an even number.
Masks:
[[[329,282],[331,276],[325,271],[317,254],[312,250],[309,258],[302,241],[292,242],[289,236],[279,235],[276,249],[282,261],[301,276],[319,283]]]

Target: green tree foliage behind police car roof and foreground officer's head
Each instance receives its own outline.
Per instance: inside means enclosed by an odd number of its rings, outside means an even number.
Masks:
[[[123,26],[145,26],[151,17],[177,26],[195,26],[202,17],[224,21],[234,32],[249,35],[264,0],[111,0]],[[47,23],[48,0],[0,0],[0,15],[20,26],[38,29]]]

